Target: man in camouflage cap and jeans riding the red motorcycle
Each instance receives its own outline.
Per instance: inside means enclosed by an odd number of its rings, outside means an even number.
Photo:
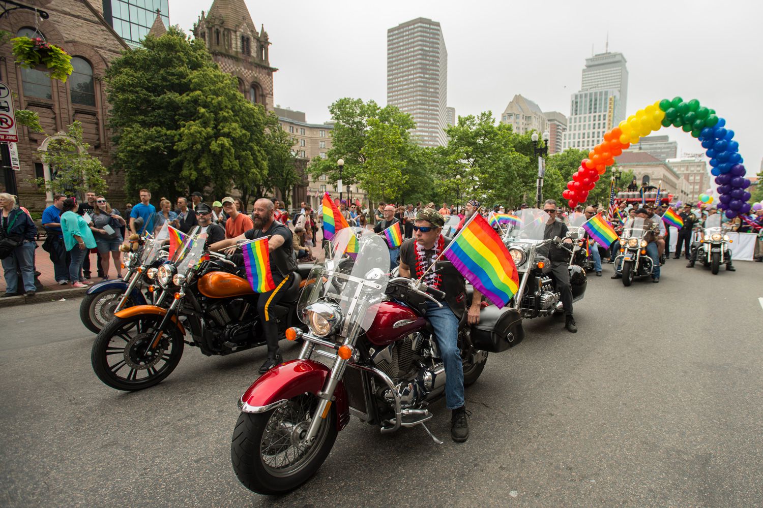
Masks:
[[[435,209],[421,209],[414,221],[414,238],[408,238],[401,245],[400,276],[420,278],[432,263],[443,254],[443,249],[450,243],[442,235],[445,219]],[[415,273],[412,271],[415,270]],[[435,339],[445,365],[446,406],[452,411],[450,435],[453,441],[462,443],[469,436],[468,417],[464,400],[464,370],[459,351],[459,321],[466,312],[466,288],[464,277],[446,263],[442,272],[430,270],[424,276],[427,286],[445,292],[445,299],[439,307],[434,302],[427,302],[427,319],[434,329]],[[472,305],[467,312],[469,324],[479,322],[482,295],[475,289]]]

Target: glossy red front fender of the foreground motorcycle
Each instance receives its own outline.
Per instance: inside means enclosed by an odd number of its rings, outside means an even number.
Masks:
[[[292,359],[275,366],[259,377],[241,395],[239,408],[243,413],[264,413],[286,404],[304,392],[317,394],[323,390],[330,369],[311,359]],[[349,407],[344,383],[339,382],[333,393],[336,407],[336,430],[349,422]]]

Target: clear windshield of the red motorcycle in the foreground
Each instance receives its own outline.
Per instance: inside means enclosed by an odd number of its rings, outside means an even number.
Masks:
[[[332,238],[333,257],[317,264],[307,277],[298,303],[298,314],[307,322],[304,308],[314,302],[340,306],[344,323],[340,334],[349,337],[365,331],[374,321],[378,302],[387,289],[389,248],[383,237],[368,229],[344,228]]]

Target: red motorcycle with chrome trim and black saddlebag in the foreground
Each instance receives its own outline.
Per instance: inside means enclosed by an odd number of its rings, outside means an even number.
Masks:
[[[262,375],[239,401],[233,470],[259,494],[284,494],[311,478],[351,414],[382,433],[420,426],[442,443],[425,425],[433,417],[427,407],[444,395],[445,367],[424,311],[443,292],[389,279],[389,251],[378,235],[356,238],[343,229],[333,248],[337,254],[314,267],[298,302],[309,332],[287,331],[290,340],[304,340],[298,358]],[[488,353],[523,339],[521,319],[517,309],[494,306],[482,309],[476,326],[464,317],[464,385],[477,381]]]

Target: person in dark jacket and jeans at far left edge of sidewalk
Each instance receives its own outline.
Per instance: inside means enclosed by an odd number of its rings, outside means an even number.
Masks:
[[[0,257],[5,276],[6,296],[16,296],[18,272],[24,283],[24,294],[34,296],[34,238],[37,226],[24,210],[16,206],[16,196],[0,193]]]

